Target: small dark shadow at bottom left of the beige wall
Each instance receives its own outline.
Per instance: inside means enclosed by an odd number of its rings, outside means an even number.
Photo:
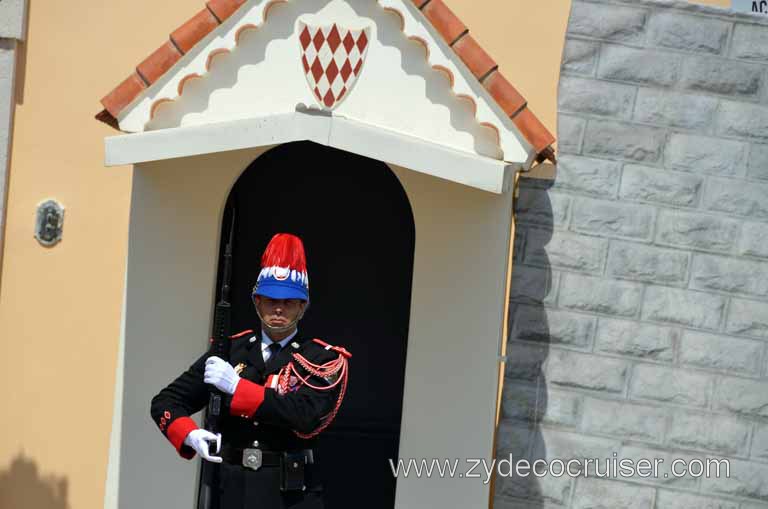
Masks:
[[[70,509],[66,477],[41,475],[37,463],[19,453],[0,471],[0,509]]]

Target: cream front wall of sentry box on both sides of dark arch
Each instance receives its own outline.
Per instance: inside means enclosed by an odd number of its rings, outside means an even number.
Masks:
[[[199,461],[187,462],[169,448],[148,406],[207,347],[223,210],[234,182],[264,152],[134,167],[119,426],[111,437],[105,509],[195,507]],[[490,464],[513,193],[495,195],[390,167],[408,195],[417,231],[398,457]],[[490,486],[471,481],[400,476],[395,507],[488,507]]]

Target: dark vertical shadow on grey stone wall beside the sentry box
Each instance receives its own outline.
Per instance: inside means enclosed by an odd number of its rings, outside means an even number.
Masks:
[[[549,181],[521,179],[519,197],[514,203],[509,337],[496,440],[497,463],[511,460],[513,468],[496,470],[494,509],[543,509],[560,501],[558,493],[567,497],[570,491],[569,483],[549,486],[552,478],[525,475],[525,471],[518,473],[514,468],[520,459],[533,464],[547,458],[541,425],[547,420],[549,403],[544,363],[551,343],[546,305],[552,294],[553,276],[545,246],[553,228],[552,204],[547,193],[551,185]]]

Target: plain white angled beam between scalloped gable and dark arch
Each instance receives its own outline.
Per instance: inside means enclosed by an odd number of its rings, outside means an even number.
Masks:
[[[491,193],[509,190],[510,164],[429,141],[318,113],[175,127],[105,139],[106,165],[118,166],[211,154],[293,141],[313,141]]]

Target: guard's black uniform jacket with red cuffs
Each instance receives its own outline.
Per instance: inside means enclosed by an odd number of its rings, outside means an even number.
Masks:
[[[303,439],[295,431],[310,433],[322,423],[336,404],[341,384],[332,390],[316,390],[300,381],[281,395],[274,386],[281,368],[293,361],[302,377],[315,386],[325,387],[335,381],[311,376],[292,356],[301,354],[313,364],[324,364],[340,354],[328,350],[312,339],[299,335],[288,342],[277,356],[264,365],[261,353],[261,332],[244,331],[231,336],[229,362],[244,364],[241,380],[233,396],[224,397],[220,419],[222,443],[231,447],[251,447],[258,440],[266,451],[295,451],[315,446],[315,438]],[[192,458],[194,451],[184,445],[187,434],[197,429],[189,416],[202,410],[209,399],[211,386],[203,382],[205,361],[210,352],[200,357],[187,371],[161,390],[151,405],[152,419],[181,456]],[[275,376],[270,376],[275,375]],[[294,379],[294,382],[296,380]]]

